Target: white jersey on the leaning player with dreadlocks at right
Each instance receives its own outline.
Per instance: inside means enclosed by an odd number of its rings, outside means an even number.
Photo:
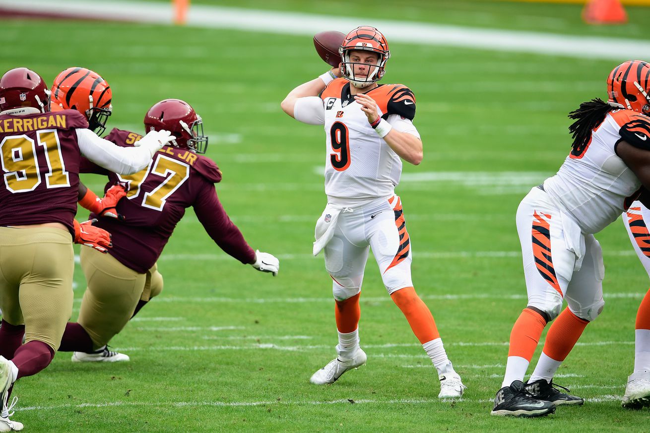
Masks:
[[[630,110],[609,112],[584,149],[571,151],[558,173],[544,181],[544,190],[584,233],[603,230],[638,196],[641,182],[616,155],[616,144],[627,128],[623,125],[638,120],[648,118]]]

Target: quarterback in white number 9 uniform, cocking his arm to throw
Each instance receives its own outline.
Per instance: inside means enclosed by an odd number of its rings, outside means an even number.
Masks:
[[[409,235],[395,195],[402,159],[415,165],[422,161],[422,141],[411,122],[415,96],[403,85],[378,85],[390,52],[374,27],[348,33],[339,53],[340,68],[294,88],[281,103],[289,116],[324,125],[326,133],[328,204],[317,222],[313,253],[324,250],[333,280],[339,344],[337,358],[311,382],[331,384],[366,361],[359,347],[359,295],[371,246],[389,295],[437,369],[438,397],[461,397],[465,386],[447,358],[431,312],[413,289]]]

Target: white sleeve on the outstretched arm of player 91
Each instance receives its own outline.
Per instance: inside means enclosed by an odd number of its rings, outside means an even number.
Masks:
[[[99,138],[90,129],[77,128],[76,131],[81,155],[111,172],[137,173],[151,161],[151,151],[144,146],[121,148],[109,140]]]

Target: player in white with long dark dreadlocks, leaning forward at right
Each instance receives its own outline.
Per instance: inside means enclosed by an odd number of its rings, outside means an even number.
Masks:
[[[645,200],[642,192],[650,188],[650,118],[645,115],[650,66],[640,60],[620,64],[607,85],[608,102],[593,99],[569,114],[576,119],[569,127],[573,150],[558,173],[530,190],[517,209],[528,306],[510,334],[493,415],[535,417],[554,412],[557,404],[584,401],[554,389],[552,376],[586,324],[603,311],[603,252],[593,233],[637,198]],[[568,308],[560,314],[563,298]],[[525,385],[541,332],[556,317]],[[646,326],[649,321],[645,317]]]

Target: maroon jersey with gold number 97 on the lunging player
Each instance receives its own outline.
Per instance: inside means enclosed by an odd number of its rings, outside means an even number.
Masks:
[[[140,138],[141,135],[116,128],[105,137],[122,147],[133,146]],[[87,160],[83,161],[81,171],[106,173]],[[118,213],[126,220],[99,217],[95,225],[111,233],[113,247],[109,254],[126,267],[140,273],[149,270],[190,206],[222,250],[242,263],[255,259],[255,252],[217,198],[214,183],[221,180],[221,172],[211,159],[187,149],[165,146],[153,156],[148,168],[130,176],[112,172],[108,176],[105,190],[116,184],[127,189],[127,197],[117,205]]]

